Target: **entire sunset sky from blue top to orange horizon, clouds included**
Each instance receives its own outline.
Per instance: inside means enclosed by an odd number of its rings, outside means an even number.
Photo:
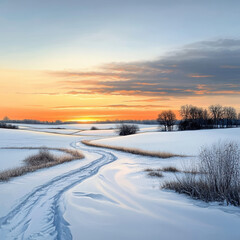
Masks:
[[[238,0],[1,0],[0,119],[240,112]]]

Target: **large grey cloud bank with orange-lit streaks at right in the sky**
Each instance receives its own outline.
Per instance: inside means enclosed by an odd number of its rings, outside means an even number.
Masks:
[[[239,95],[240,40],[189,44],[155,61],[111,63],[98,72],[52,72],[68,94]]]

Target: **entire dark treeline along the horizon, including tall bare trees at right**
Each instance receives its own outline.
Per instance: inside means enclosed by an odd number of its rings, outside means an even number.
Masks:
[[[172,110],[162,111],[156,120],[105,120],[93,121],[91,123],[132,123],[132,124],[160,124],[164,126],[165,131],[171,131],[174,125],[178,126],[179,130],[197,130],[211,129],[224,127],[239,127],[240,113],[233,107],[221,106],[219,104],[211,105],[208,109],[193,105],[181,106],[179,110],[181,119],[177,120],[176,114]],[[56,121],[39,121],[33,119],[11,120],[5,117],[0,123],[25,123],[25,124],[76,124],[77,121],[63,122]]]

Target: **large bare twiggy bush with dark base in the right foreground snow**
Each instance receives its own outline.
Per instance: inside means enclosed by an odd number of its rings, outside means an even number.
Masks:
[[[185,174],[163,188],[206,202],[219,201],[240,206],[240,149],[234,142],[203,148],[199,155],[201,174]]]

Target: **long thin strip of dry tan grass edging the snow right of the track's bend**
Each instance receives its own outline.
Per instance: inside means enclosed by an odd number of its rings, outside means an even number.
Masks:
[[[178,155],[178,154],[173,154],[173,153],[168,153],[168,152],[151,152],[151,151],[144,151],[144,150],[137,149],[137,148],[108,146],[105,144],[92,143],[87,140],[83,140],[82,143],[85,145],[88,145],[88,146],[108,148],[108,149],[113,149],[113,150],[117,150],[117,151],[132,153],[132,154],[141,155],[141,156],[148,156],[148,157],[159,157],[159,158],[183,157],[183,155]]]

